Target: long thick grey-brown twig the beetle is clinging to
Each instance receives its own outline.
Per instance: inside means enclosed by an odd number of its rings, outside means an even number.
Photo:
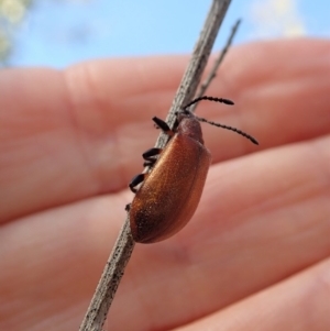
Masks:
[[[226,15],[230,0],[213,0],[208,18],[195,46],[193,57],[182,79],[174,98],[169,114],[166,119],[169,125],[175,122],[175,112],[190,100],[198,87],[201,74],[206,67],[215,40]],[[156,146],[164,147],[167,136],[162,134],[157,139]],[[131,234],[130,221],[127,218],[96,293],[81,322],[79,331],[101,331],[108,310],[114,297],[116,290],[123,275],[124,267],[133,252],[134,241]]]

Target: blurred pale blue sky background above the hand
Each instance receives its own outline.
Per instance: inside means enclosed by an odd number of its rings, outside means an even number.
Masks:
[[[100,57],[190,53],[211,1],[0,0],[2,66],[51,66]],[[323,0],[232,0],[216,43],[330,36]]]

